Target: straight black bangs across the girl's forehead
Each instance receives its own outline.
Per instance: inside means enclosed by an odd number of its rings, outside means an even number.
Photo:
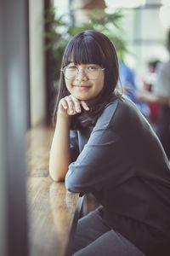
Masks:
[[[94,38],[79,38],[65,49],[63,67],[71,62],[75,65],[90,63],[105,67],[105,55]]]

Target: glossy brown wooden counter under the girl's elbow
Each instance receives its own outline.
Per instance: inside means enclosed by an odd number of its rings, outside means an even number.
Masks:
[[[27,133],[27,197],[31,256],[69,255],[82,205],[78,194],[66,191],[48,175],[54,131],[37,127]]]

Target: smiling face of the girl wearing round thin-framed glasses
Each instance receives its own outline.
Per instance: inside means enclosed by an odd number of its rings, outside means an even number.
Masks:
[[[88,101],[99,95],[104,87],[105,71],[96,64],[75,65],[65,68],[65,84],[71,95],[78,100]]]

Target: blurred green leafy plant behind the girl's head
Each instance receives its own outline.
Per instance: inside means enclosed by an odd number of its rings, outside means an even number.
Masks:
[[[122,14],[120,11],[109,15],[104,10],[95,10],[94,17],[80,26],[68,25],[64,21],[64,15],[57,19],[54,8],[49,9],[46,17],[46,23],[48,23],[48,31],[45,32],[46,50],[50,52],[51,77],[54,81],[59,79],[65,45],[72,36],[83,30],[94,29],[105,33],[115,45],[119,58],[123,60],[123,55],[127,49],[122,36],[124,32],[121,27]]]

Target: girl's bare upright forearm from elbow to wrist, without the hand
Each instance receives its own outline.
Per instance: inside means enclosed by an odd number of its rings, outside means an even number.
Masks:
[[[70,125],[71,116],[58,113],[49,157],[49,173],[54,181],[58,182],[64,181],[71,163]]]

